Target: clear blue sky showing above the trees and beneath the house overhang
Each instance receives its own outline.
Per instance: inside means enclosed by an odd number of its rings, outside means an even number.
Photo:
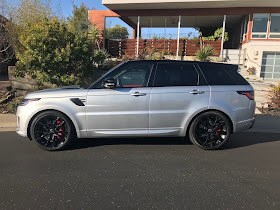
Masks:
[[[20,2],[20,0],[8,0],[9,2],[14,1],[15,3]],[[52,0],[53,9],[55,12],[59,13],[60,5],[62,15],[68,17],[72,14],[72,4],[79,6],[84,3],[90,9],[96,10],[107,10],[108,8],[102,4],[102,0]],[[106,18],[107,26],[113,27],[115,24],[119,24],[121,26],[125,26],[128,29],[128,32],[131,34],[132,29],[126,23],[124,23],[119,18]],[[181,28],[180,37],[186,37],[189,32],[192,32],[194,35],[198,35],[197,31],[192,28]],[[149,38],[156,35],[157,37],[163,37],[164,35],[168,38],[170,35],[172,38],[177,37],[177,28],[142,28],[142,36],[143,38]]]

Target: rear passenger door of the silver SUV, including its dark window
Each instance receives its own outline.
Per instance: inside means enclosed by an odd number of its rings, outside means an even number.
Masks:
[[[150,136],[185,135],[190,117],[209,105],[210,87],[194,62],[158,62],[150,99]]]

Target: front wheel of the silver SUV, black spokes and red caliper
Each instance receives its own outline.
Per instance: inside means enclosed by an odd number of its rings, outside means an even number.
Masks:
[[[58,111],[38,114],[30,126],[34,143],[47,151],[63,150],[75,139],[75,128],[71,120]]]

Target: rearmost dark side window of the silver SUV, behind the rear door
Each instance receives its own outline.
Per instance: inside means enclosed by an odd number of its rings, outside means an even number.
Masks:
[[[199,63],[209,85],[249,85],[237,72],[237,66],[228,64]]]

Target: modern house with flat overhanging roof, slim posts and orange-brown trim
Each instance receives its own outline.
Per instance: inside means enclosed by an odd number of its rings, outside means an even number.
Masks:
[[[109,10],[89,11],[89,20],[101,31],[106,17],[119,17],[139,39],[142,27],[198,27],[229,33],[221,44],[227,62],[254,67],[263,78],[280,78],[280,1],[279,0],[103,0]],[[179,36],[178,36],[179,43]],[[178,45],[177,45],[178,46]],[[178,47],[177,47],[178,48]],[[178,58],[178,49],[177,49]]]

